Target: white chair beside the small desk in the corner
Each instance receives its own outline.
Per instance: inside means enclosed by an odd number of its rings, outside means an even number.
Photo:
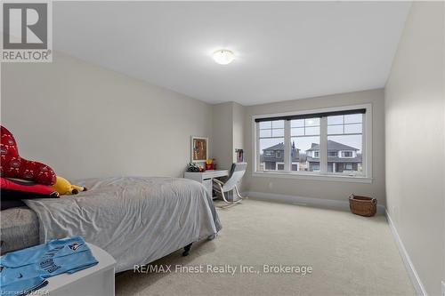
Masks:
[[[239,204],[239,202],[241,202],[241,200],[245,198],[239,194],[237,185],[239,181],[243,178],[244,173],[246,172],[246,168],[247,168],[247,163],[231,164],[231,174],[229,176],[229,179],[227,179],[225,182],[223,182],[222,180],[214,179],[214,191],[221,194],[221,196],[223,196],[223,201],[229,204],[224,207],[229,207],[235,204]],[[229,201],[225,196],[224,192],[228,192],[233,189],[235,189],[235,191],[237,192],[237,196],[239,198],[235,200],[235,196],[233,196],[233,200]]]

